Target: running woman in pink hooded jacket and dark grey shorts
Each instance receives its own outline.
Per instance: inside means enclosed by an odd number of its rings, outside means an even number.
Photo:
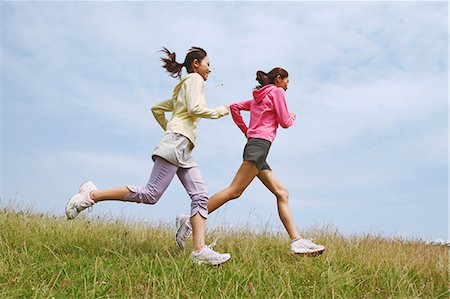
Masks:
[[[282,68],[274,68],[268,74],[258,71],[256,80],[261,84],[253,91],[253,99],[239,102],[230,106],[230,112],[236,125],[247,137],[244,148],[243,162],[239,167],[231,185],[214,194],[208,201],[208,213],[231,199],[241,196],[255,177],[269,189],[277,198],[278,214],[281,222],[291,238],[292,253],[321,253],[325,250],[322,245],[316,245],[310,240],[300,237],[288,204],[287,188],[273,174],[266,158],[270,146],[275,139],[278,126],[289,128],[295,122],[295,114],[289,113],[285,91],[288,88],[288,72]],[[250,111],[250,124],[242,120],[241,111]],[[189,222],[178,228],[180,238],[190,234]],[[184,241],[184,240],[183,240]],[[178,244],[184,243],[177,241]]]

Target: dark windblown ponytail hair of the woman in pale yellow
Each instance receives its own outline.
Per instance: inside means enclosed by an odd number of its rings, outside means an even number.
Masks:
[[[173,78],[181,79],[181,69],[186,68],[188,73],[192,73],[192,62],[197,59],[199,63],[202,62],[208,54],[205,50],[199,47],[191,47],[186,54],[186,58],[183,63],[178,63],[176,61],[175,52],[171,53],[166,47],[163,47],[159,52],[164,52],[167,54],[167,58],[161,57],[161,61],[164,62],[163,68],[172,76]]]

